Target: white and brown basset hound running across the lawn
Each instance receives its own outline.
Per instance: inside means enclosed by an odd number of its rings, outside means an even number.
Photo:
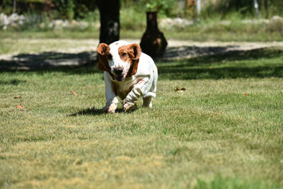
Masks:
[[[119,40],[97,48],[98,69],[104,71],[106,104],[103,111],[115,113],[119,96],[125,112],[142,96],[143,107],[152,107],[156,97],[157,67],[138,44]]]

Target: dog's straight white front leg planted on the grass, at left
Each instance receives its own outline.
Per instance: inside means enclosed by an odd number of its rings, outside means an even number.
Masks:
[[[103,111],[106,113],[115,113],[118,104],[118,98],[116,97],[112,89],[112,84],[107,72],[104,72],[104,81],[105,81],[106,104],[103,107]]]

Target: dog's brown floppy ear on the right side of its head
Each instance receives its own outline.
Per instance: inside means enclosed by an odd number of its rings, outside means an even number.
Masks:
[[[127,45],[127,52],[129,54],[129,58],[131,59],[131,67],[129,67],[127,76],[132,76],[137,73],[139,57],[141,56],[141,47],[136,43]]]

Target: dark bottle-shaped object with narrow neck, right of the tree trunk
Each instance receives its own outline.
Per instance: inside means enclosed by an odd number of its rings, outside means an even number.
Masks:
[[[157,12],[146,12],[146,31],[141,38],[141,50],[151,57],[161,57],[166,49],[167,41],[158,30]]]

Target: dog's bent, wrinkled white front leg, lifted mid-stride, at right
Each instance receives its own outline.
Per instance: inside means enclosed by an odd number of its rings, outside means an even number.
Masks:
[[[146,93],[146,84],[148,82],[148,79],[142,79],[137,84],[134,85],[134,88],[132,88],[132,91],[130,91],[124,101],[122,101],[123,109],[125,112],[127,110],[133,108],[136,105],[137,100],[140,96],[142,96],[144,93]]]

